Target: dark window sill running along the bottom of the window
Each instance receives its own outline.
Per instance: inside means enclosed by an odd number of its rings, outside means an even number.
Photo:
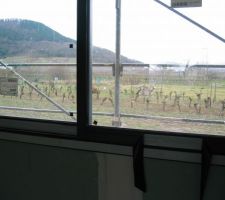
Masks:
[[[203,138],[214,137],[99,126],[77,136],[72,122],[0,117],[0,140],[124,156],[132,156],[129,144],[139,134],[144,135],[144,157],[190,163],[201,163]],[[225,166],[225,156],[214,155],[213,164]]]

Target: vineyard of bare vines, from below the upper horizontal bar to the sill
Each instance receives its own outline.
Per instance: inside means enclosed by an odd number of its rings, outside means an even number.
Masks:
[[[76,115],[73,65],[14,68],[35,88]],[[225,76],[221,72],[223,69],[207,67],[124,67],[120,86],[122,127],[224,134]],[[15,76],[4,73],[2,69],[2,76]],[[93,120],[98,125],[112,125],[114,85],[111,67],[93,67]],[[22,80],[18,81],[17,95],[1,95],[0,100],[2,115],[71,120]]]

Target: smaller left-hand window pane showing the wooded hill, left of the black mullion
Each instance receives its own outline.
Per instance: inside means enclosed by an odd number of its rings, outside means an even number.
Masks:
[[[1,115],[75,120],[76,6],[76,0],[1,4]]]

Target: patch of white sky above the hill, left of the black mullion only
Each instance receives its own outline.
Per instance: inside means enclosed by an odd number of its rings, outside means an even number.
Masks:
[[[0,18],[42,22],[65,36],[76,38],[76,0],[5,0]]]

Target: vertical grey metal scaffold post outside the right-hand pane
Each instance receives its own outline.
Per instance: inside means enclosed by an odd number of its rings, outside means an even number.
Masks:
[[[121,28],[121,0],[116,0],[116,60],[115,60],[115,107],[113,126],[120,126],[120,32]]]

